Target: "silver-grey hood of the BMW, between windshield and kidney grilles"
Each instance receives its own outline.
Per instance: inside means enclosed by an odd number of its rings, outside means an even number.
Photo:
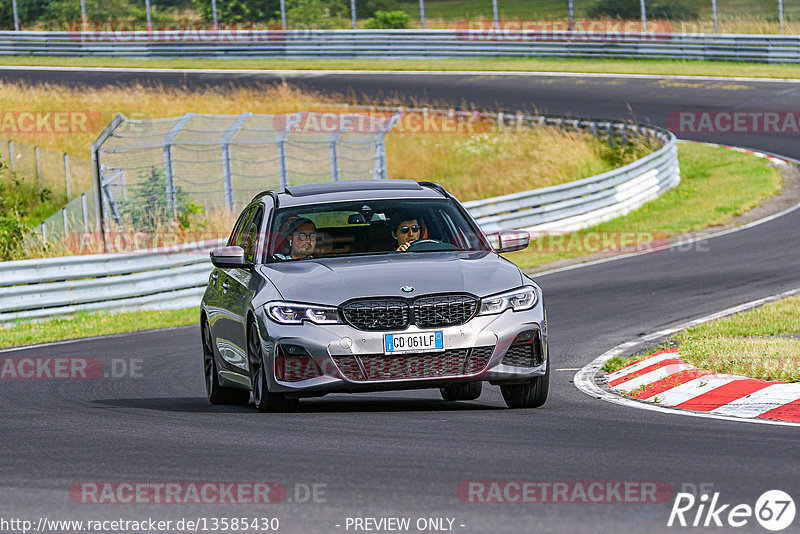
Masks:
[[[466,292],[485,297],[522,285],[493,252],[425,252],[268,263],[259,271],[284,300],[338,306],[356,297]],[[403,286],[414,288],[403,292]]]

